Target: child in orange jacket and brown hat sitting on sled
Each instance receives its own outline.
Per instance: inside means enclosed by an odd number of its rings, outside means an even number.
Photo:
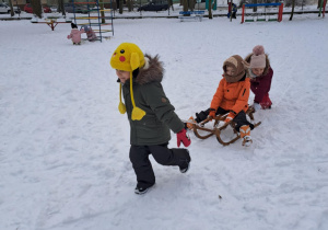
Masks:
[[[229,113],[224,123],[234,120],[235,129],[241,133],[243,146],[250,146],[250,129],[254,125],[246,118],[250,83],[246,78],[247,64],[238,55],[234,55],[223,62],[223,78],[211,102],[210,108],[196,113],[195,122],[200,123],[208,116],[215,117]],[[191,119],[194,119],[191,117]],[[187,124],[188,126],[188,124]]]

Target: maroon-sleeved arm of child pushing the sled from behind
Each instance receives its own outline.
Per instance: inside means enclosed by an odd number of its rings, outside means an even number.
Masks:
[[[255,94],[254,102],[260,103],[263,96],[270,91],[273,70],[270,68],[268,73],[258,81],[258,85],[251,87],[251,91]]]

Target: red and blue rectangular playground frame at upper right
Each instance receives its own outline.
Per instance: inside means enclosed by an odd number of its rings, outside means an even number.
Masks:
[[[246,8],[257,8],[257,7],[265,7],[263,12],[253,12],[253,13],[245,13]],[[270,15],[274,15],[276,13],[269,13],[267,12],[267,7],[279,7],[278,10],[278,16],[277,18],[270,18]],[[258,3],[258,4],[243,4],[243,12],[242,12],[242,22],[259,22],[259,21],[282,21],[282,12],[283,12],[283,3]],[[245,16],[251,16],[251,19],[245,19]]]

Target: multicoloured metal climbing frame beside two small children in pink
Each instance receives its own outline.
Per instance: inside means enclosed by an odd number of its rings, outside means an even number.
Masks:
[[[73,4],[73,13],[74,13],[74,23],[77,25],[89,25],[97,35],[97,41],[103,42],[103,38],[109,38],[110,36],[105,36],[103,34],[112,33],[114,36],[114,24],[113,24],[113,11],[112,5],[113,2],[109,0],[108,2],[99,2],[98,0],[93,0],[92,2],[86,0],[85,2],[77,2],[72,0]],[[77,16],[74,5],[86,5],[87,15],[86,16]],[[104,4],[110,5],[110,9],[104,9]],[[91,15],[92,12],[95,12],[96,15]],[[105,15],[105,13],[109,13],[109,15]],[[81,23],[77,23],[77,20],[81,20]],[[83,20],[83,21],[82,21]],[[110,22],[106,22],[105,20],[110,20]],[[105,27],[106,26],[106,27]]]

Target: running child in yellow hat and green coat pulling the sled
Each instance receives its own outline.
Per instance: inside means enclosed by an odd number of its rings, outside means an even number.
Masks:
[[[178,166],[181,173],[189,170],[189,151],[168,148],[169,129],[176,133],[178,147],[180,143],[188,147],[191,141],[164,93],[161,83],[164,68],[157,55],[151,57],[136,44],[122,43],[112,55],[110,66],[116,69],[119,82],[118,110],[127,113],[130,122],[130,161],[137,175],[134,193],[141,195],[155,184],[150,154],[162,165]]]

